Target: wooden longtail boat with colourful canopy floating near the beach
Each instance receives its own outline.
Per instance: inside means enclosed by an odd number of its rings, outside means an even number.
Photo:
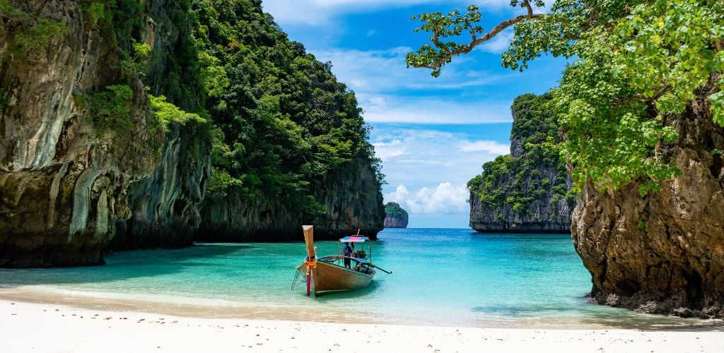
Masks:
[[[306,281],[307,295],[319,296],[334,292],[351,291],[369,286],[379,268],[372,264],[372,247],[369,238],[357,235],[340,239],[341,244],[361,244],[361,249],[350,251],[345,245],[342,255],[329,255],[316,257],[316,247],[313,240],[313,226],[302,226],[304,241],[307,247],[307,257],[297,266],[304,281]],[[364,243],[368,242],[369,253],[364,251]],[[384,271],[385,273],[392,273]]]

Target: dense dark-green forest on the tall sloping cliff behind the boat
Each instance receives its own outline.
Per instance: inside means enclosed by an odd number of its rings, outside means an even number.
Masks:
[[[289,41],[258,1],[228,2],[192,5],[206,106],[218,127],[210,190],[322,211],[311,183],[353,158],[377,163],[355,95],[331,64]]]

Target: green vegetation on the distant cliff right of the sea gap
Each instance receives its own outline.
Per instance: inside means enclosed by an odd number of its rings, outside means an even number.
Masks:
[[[563,158],[550,148],[550,143],[560,143],[550,101],[550,94],[524,94],[513,101],[513,155],[484,163],[483,172],[468,182],[468,190],[488,207],[510,205],[515,212],[526,213],[533,200],[551,190],[553,203],[575,197],[565,184]],[[540,169],[555,169],[557,174],[550,179]]]

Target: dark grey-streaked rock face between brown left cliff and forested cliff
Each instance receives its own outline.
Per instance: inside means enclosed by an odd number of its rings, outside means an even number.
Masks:
[[[130,184],[132,217],[117,222],[110,247],[187,247],[201,222],[199,205],[211,177],[211,149],[205,124],[172,125],[151,177]]]

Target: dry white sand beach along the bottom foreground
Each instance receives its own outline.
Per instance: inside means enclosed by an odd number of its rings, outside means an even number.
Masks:
[[[723,328],[455,328],[194,318],[0,299],[0,352],[722,352]]]

